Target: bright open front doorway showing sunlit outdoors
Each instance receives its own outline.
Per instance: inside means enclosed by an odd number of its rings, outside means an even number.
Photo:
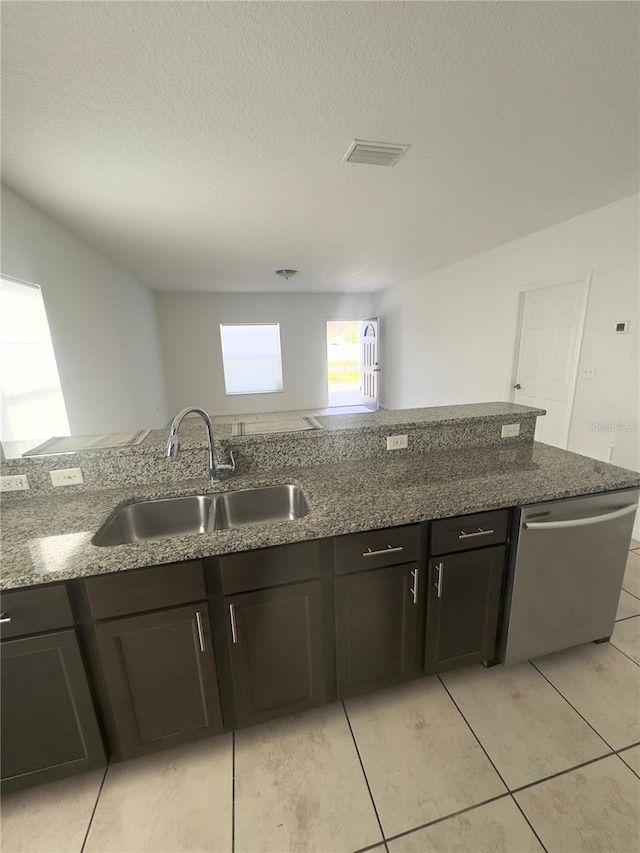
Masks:
[[[327,320],[327,406],[359,406],[360,320]]]

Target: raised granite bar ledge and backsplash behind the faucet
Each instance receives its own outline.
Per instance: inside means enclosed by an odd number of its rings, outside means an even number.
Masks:
[[[321,429],[301,432],[232,437],[229,424],[218,424],[214,430],[221,461],[227,461],[229,451],[233,450],[238,474],[246,474],[386,457],[386,437],[394,433],[407,435],[408,449],[394,451],[403,455],[431,454],[476,445],[507,447],[530,443],[536,419],[543,414],[542,409],[513,403],[474,403],[318,417]],[[512,422],[520,425],[519,435],[503,439],[501,427]],[[66,486],[66,494],[141,483],[180,488],[186,480],[199,477],[207,470],[204,424],[199,418],[183,422],[178,459],[167,459],[168,434],[167,426],[153,430],[142,444],[133,447],[6,460],[2,463],[2,472],[26,474],[31,488],[28,492],[2,495],[2,502],[58,493],[49,478],[49,472],[57,468],[82,469],[83,485]]]

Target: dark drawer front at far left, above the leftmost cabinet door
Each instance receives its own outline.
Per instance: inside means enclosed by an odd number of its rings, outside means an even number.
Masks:
[[[63,584],[2,594],[2,638],[23,637],[73,625],[69,597]]]

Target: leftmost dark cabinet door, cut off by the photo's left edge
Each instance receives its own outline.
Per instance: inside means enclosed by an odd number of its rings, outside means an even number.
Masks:
[[[1,650],[3,792],[106,764],[75,632]]]

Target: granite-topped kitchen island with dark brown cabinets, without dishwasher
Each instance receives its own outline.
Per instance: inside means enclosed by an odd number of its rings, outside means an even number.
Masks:
[[[223,430],[219,450],[239,465],[215,484],[197,425],[177,464],[162,431],[122,453],[12,461],[33,496],[3,501],[3,788],[100,766],[103,744],[111,760],[132,758],[495,663],[514,508],[635,501],[640,475],[534,442],[539,410],[451,409],[286,436]],[[390,434],[407,449],[388,451]],[[49,471],[73,462],[85,483],[54,493]],[[308,514],[93,543],[129,503],[285,483]],[[576,642],[590,639],[604,638]]]

